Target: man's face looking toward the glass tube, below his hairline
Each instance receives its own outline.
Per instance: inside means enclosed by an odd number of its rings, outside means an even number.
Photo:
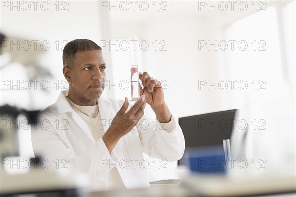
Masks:
[[[96,105],[104,90],[106,65],[102,51],[76,53],[74,65],[69,67],[63,69],[69,83],[68,98],[77,105]]]

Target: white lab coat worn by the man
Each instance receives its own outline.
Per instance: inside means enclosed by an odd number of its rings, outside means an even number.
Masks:
[[[107,172],[112,167],[117,167],[126,188],[149,187],[143,152],[168,162],[182,157],[184,136],[175,119],[172,118],[173,131],[168,133],[161,130],[158,121],[153,123],[145,116],[141,125],[122,137],[109,154],[102,138],[95,142],[86,123],[66,100],[67,95],[68,91],[62,91],[56,103],[42,111],[38,128],[31,129],[33,150],[35,156],[41,155],[55,166],[57,159],[67,159],[72,169],[89,176],[90,189],[108,189]],[[104,132],[122,104],[123,101],[98,99]],[[65,163],[60,163],[59,168]]]

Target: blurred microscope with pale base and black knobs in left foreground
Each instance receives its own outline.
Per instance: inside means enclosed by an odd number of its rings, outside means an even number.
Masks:
[[[24,66],[34,68],[38,55],[42,53],[38,44],[36,44],[36,48],[29,51],[11,50],[9,47],[3,47],[3,44],[5,46],[10,41],[16,43],[22,40],[24,39],[9,38],[0,33],[1,56],[7,55],[10,59],[9,62],[19,62]],[[1,70],[4,67],[5,65],[1,65]],[[44,69],[37,66],[36,71],[44,72]],[[41,165],[43,160],[39,156],[31,159],[18,158],[20,156],[18,138],[20,121],[18,120],[21,116],[25,116],[28,125],[34,126],[38,122],[38,115],[38,110],[27,111],[10,105],[0,106],[1,197],[79,196],[80,188],[86,181],[84,176],[74,175],[70,170],[44,168]],[[17,159],[14,160],[12,157]],[[16,168],[25,168],[26,170],[16,170],[11,173],[9,169],[14,168],[15,165]]]

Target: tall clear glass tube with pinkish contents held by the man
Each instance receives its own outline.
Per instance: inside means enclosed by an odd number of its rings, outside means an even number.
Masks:
[[[137,37],[130,37],[130,40],[137,41]],[[138,73],[138,63],[137,63],[137,53],[136,48],[133,48],[135,46],[134,43],[132,43],[132,46],[130,47],[130,70],[131,70],[131,96],[132,101],[136,101],[140,97],[139,93],[139,73]]]

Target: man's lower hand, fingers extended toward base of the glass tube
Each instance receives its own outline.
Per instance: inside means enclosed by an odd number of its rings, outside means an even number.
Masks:
[[[139,120],[144,115],[144,108],[146,105],[145,96],[142,95],[138,101],[128,110],[128,100],[125,101],[117,112],[116,116],[111,122],[110,127],[107,129],[102,139],[111,153],[121,137],[129,133]]]

